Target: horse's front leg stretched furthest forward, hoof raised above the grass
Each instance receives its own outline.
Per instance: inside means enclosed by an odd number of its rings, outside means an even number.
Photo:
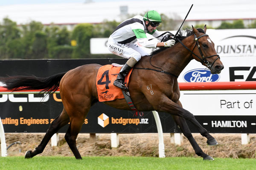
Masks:
[[[207,132],[207,130],[200,125],[200,123],[195,119],[195,116],[189,111],[183,109],[180,105],[173,102],[167,96],[162,95],[158,102],[154,103],[154,109],[160,112],[167,112],[175,116],[183,117],[189,120],[195,127],[197,127],[199,133],[207,138],[207,144],[216,145],[218,142]]]

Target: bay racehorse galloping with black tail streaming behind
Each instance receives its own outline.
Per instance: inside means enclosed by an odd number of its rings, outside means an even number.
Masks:
[[[217,141],[195,119],[194,115],[182,108],[179,101],[180,90],[177,77],[188,63],[195,59],[210,69],[212,74],[219,74],[224,68],[220,57],[216,54],[214,43],[204,29],[186,30],[186,35],[178,34],[176,43],[170,48],[155,51],[151,56],[140,59],[130,77],[128,89],[131,99],[138,111],[158,111],[170,113],[184,136],[189,140],[195,153],[204,160],[213,160],[204,153],[193,138],[186,120],[190,121],[207,144],[215,145]],[[26,152],[25,158],[32,158],[42,153],[54,133],[70,122],[65,139],[76,159],[81,155],[76,147],[76,138],[84,123],[90,107],[98,102],[96,91],[96,74],[101,65],[88,64],[74,68],[65,73],[55,74],[47,78],[35,76],[1,77],[9,90],[42,89],[45,93],[60,90],[63,111],[52,122],[38,147]],[[151,85],[152,91],[147,86]],[[105,102],[114,108],[130,110],[125,99]]]

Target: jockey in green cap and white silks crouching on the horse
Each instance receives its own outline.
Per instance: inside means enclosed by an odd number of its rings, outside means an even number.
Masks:
[[[160,35],[160,32],[157,31],[157,26],[161,22],[160,14],[157,11],[151,10],[144,17],[137,15],[125,20],[116,27],[108,38],[108,49],[113,54],[127,58],[128,61],[122,66],[113,85],[126,90],[124,85],[126,74],[140,60],[141,56],[149,55],[136,42],[146,48],[170,47],[175,44],[175,40],[168,40],[166,42],[148,40],[146,33],[151,34],[153,37]],[[163,36],[157,39],[162,40],[162,38]]]

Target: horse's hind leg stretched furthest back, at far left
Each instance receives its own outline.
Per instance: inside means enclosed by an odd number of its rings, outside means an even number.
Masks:
[[[67,125],[69,121],[70,121],[69,116],[65,111],[65,109],[63,109],[61,114],[54,121],[52,121],[50,127],[48,128],[43,140],[38,145],[38,147],[36,147],[34,151],[28,150],[26,152],[25,158],[32,158],[33,156],[36,156],[37,154],[42,153],[44,151],[44,148],[48,144],[49,140],[54,135],[54,133],[57,133],[58,130],[64,125]]]

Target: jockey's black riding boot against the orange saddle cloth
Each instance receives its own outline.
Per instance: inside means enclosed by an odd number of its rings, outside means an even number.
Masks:
[[[125,76],[129,71],[131,70],[131,67],[128,64],[125,64],[122,66],[119,74],[117,75],[116,80],[113,82],[113,85],[116,87],[122,88],[123,90],[126,90],[126,86],[124,84]]]

